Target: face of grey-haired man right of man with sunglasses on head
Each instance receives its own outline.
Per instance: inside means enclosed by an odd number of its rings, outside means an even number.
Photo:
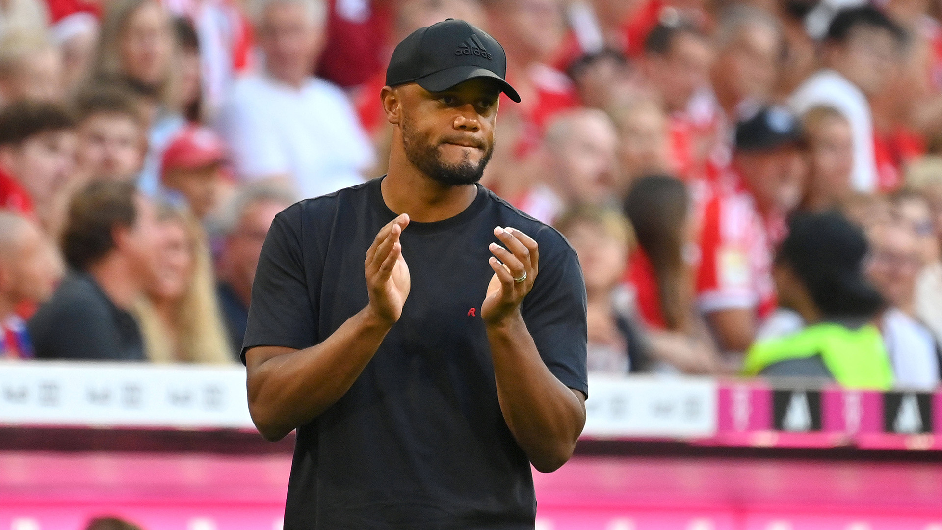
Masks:
[[[717,59],[714,80],[739,101],[768,101],[778,77],[779,36],[765,25],[745,25]]]

